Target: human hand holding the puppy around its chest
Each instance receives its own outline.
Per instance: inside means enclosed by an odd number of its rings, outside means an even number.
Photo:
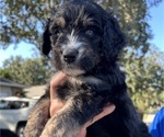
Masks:
[[[50,117],[52,117],[57,111],[59,111],[65,102],[56,99],[56,90],[58,85],[60,85],[67,78],[67,75],[63,72],[57,72],[50,81]],[[109,104],[108,106],[104,107],[103,112],[96,115],[92,121],[89,121],[83,125],[80,133],[77,137],[85,137],[86,136],[86,128],[91,126],[93,123],[97,122],[98,119],[103,118],[104,116],[110,114],[115,110],[114,104]]]

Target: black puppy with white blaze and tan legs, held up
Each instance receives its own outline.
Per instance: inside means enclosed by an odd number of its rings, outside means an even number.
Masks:
[[[49,90],[33,109],[24,137],[75,137],[108,103],[116,110],[87,128],[86,137],[149,137],[127,94],[117,58],[126,38],[116,19],[89,0],[59,7],[44,33],[43,53],[68,78],[58,87],[65,106],[49,118]]]

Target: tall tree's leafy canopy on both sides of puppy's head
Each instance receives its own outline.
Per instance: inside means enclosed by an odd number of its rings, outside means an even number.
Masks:
[[[0,46],[17,44],[21,41],[39,47],[42,32],[46,19],[54,5],[67,0],[0,0],[1,32]],[[148,18],[148,3],[145,0],[94,0],[105,9],[110,9],[119,20],[126,32],[129,45],[145,53],[147,39],[150,38]],[[161,0],[149,0],[150,4],[156,4]],[[139,44],[140,43],[140,44]],[[144,45],[144,46],[143,46]]]

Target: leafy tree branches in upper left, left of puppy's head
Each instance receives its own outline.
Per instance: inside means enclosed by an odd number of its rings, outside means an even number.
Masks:
[[[10,44],[24,41],[39,48],[43,26],[49,16],[51,4],[59,1],[0,0],[0,46],[7,48]]]

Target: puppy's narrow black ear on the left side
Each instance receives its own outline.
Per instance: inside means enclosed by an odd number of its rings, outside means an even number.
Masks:
[[[50,25],[50,19],[48,19],[48,21],[47,21],[47,25],[46,25],[45,32],[43,34],[43,44],[40,46],[42,53],[46,56],[48,56],[48,54],[51,49],[49,25]]]

